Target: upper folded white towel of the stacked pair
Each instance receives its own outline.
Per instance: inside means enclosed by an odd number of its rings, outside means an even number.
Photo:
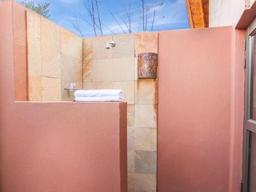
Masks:
[[[122,90],[78,90],[74,93],[75,97],[102,97],[120,96],[123,97]]]

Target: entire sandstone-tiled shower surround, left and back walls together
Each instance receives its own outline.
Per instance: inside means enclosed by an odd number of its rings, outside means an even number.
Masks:
[[[106,50],[106,43],[116,46]],[[157,79],[137,79],[138,53],[158,53],[158,33],[83,38],[27,12],[30,101],[72,101],[77,89],[122,89],[127,102],[129,191],[156,191]]]

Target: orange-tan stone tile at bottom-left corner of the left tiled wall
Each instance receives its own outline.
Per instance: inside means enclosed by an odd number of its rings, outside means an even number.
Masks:
[[[42,101],[42,85],[40,76],[29,76],[29,101]]]

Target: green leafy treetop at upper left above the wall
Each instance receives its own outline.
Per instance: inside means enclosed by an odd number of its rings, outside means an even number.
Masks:
[[[44,4],[37,4],[35,5],[35,3],[33,1],[28,1],[28,0],[23,0],[22,2],[20,2],[20,4],[22,4],[23,6],[31,9],[32,11],[46,17],[49,18],[49,6],[51,5],[51,3],[44,3]]]

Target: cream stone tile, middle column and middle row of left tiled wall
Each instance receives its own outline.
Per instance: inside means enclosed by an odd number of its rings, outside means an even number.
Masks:
[[[45,49],[41,51],[42,76],[61,78],[60,53]]]

